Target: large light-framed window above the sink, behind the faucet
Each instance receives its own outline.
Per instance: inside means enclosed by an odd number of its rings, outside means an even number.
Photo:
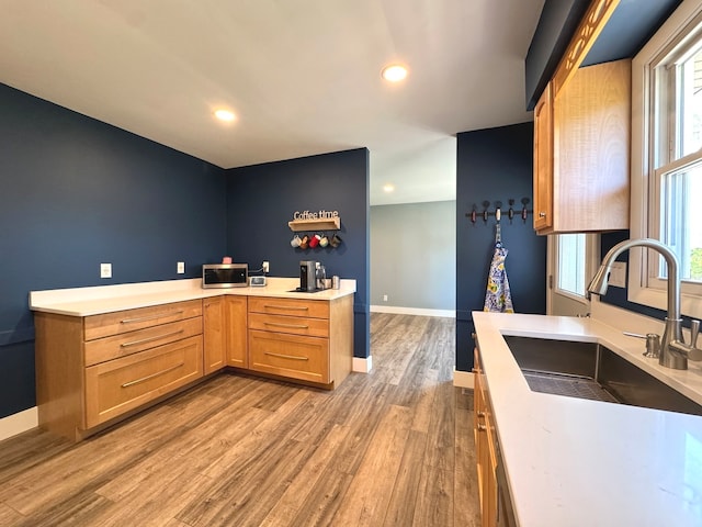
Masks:
[[[632,237],[680,260],[682,311],[702,302],[702,5],[686,0],[633,63]],[[630,300],[666,307],[667,269],[654,251],[630,257]],[[636,255],[639,255],[636,257]]]

